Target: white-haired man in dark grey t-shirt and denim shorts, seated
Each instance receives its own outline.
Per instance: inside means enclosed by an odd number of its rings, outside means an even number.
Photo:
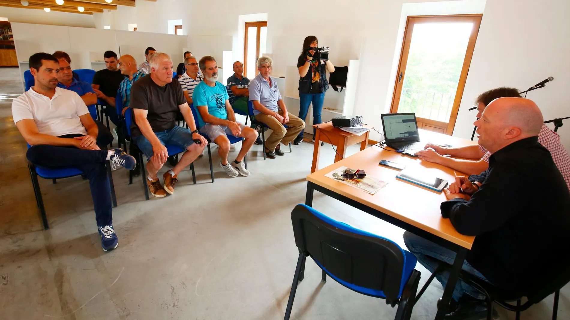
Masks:
[[[178,173],[188,167],[202,153],[206,139],[198,133],[192,110],[184,98],[178,81],[172,81],[172,60],[166,53],[157,52],[150,57],[150,74],[140,78],[131,87],[131,109],[135,121],[131,126],[133,141],[148,157],[147,183],[153,196],[162,198],[174,193]],[[190,130],[176,125],[178,110]],[[157,173],[168,159],[165,144],[185,149],[178,164],[162,175]]]

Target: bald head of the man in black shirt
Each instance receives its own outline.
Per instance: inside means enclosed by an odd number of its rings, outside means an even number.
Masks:
[[[479,144],[491,153],[518,140],[538,135],[543,117],[536,103],[524,98],[498,98],[475,121]]]

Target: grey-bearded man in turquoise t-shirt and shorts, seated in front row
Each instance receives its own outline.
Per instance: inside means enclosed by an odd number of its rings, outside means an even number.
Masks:
[[[204,80],[194,88],[192,100],[198,111],[198,123],[200,132],[207,135],[210,140],[218,145],[218,154],[222,159],[220,164],[230,177],[249,176],[243,164],[243,158],[253,146],[258,133],[255,129],[247,127],[235,120],[234,110],[231,109],[226,86],[218,82],[218,64],[214,57],[205,56],[198,62]],[[227,135],[245,138],[242,148],[231,162],[227,161],[230,152],[230,140]]]

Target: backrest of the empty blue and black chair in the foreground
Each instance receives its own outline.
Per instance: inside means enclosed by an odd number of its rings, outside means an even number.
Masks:
[[[295,244],[306,256],[349,284],[382,290],[395,304],[405,282],[406,256],[392,240],[354,228],[306,205],[291,212]]]

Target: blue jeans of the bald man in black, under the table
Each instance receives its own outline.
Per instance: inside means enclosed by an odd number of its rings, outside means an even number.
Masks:
[[[414,256],[418,259],[418,261],[427,269],[429,272],[434,272],[435,269],[443,263],[453,265],[453,261],[455,260],[455,256],[457,253],[451,251],[447,248],[439,246],[439,244],[435,244],[429,240],[422,238],[421,236],[414,235],[412,232],[406,231],[404,232],[404,243],[408,250],[413,253]],[[485,277],[481,274],[481,272],[475,270],[467,261],[463,262],[463,271],[470,273],[476,277],[479,277],[483,280]],[[449,279],[449,272],[445,271],[443,273],[439,273],[435,276],[443,288],[445,289],[445,285],[447,284],[447,279]],[[483,300],[485,296],[479,293],[473,286],[470,286],[463,282],[461,279],[457,280],[457,284],[455,284],[455,289],[453,290],[453,295],[451,296],[453,300],[459,301],[459,298],[463,296],[464,293],[469,294],[471,297]]]

